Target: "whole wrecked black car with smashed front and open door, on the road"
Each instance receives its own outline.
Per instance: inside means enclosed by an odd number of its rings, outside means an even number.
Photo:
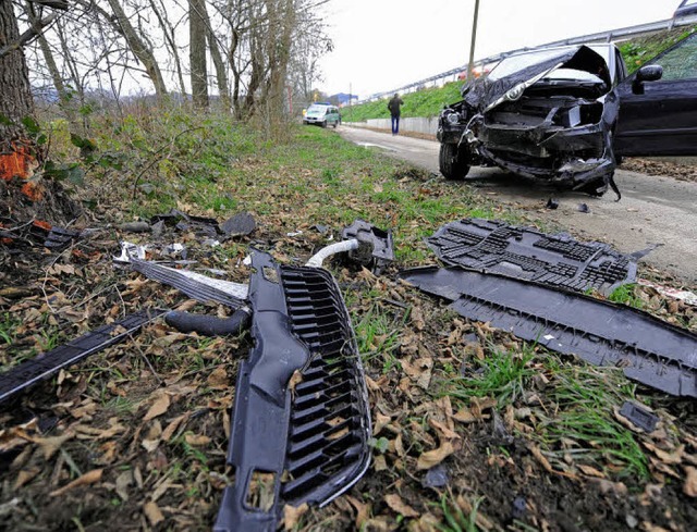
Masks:
[[[696,37],[657,59],[670,63],[671,54],[688,53]],[[682,53],[674,50],[685,46]],[[697,154],[696,89],[668,86],[660,95],[649,90],[653,83],[645,82],[657,82],[662,75],[663,69],[653,64],[627,77],[622,55],[611,44],[510,55],[486,78],[465,85],[464,99],[441,112],[440,171],[445,178],[462,180],[472,165],[497,165],[524,178],[594,196],[610,185],[619,196],[612,177],[621,156]],[[695,77],[693,69],[672,79],[694,82]],[[657,152],[657,137],[671,129],[672,117],[649,100],[671,98],[674,90],[689,95],[689,101],[682,102],[686,116],[681,121],[686,128]],[[651,149],[637,152],[637,137]]]

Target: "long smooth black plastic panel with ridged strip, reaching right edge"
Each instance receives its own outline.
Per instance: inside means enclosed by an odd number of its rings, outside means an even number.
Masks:
[[[697,335],[629,307],[539,284],[461,269],[424,268],[400,275],[453,301],[470,320],[490,322],[554,351],[662,392],[697,397]]]

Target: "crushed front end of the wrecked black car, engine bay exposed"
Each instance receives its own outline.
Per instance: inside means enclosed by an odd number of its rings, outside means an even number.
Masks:
[[[613,185],[617,102],[614,48],[597,48],[600,53],[579,46],[503,60],[442,111],[439,140],[456,143],[473,162],[603,194]]]

